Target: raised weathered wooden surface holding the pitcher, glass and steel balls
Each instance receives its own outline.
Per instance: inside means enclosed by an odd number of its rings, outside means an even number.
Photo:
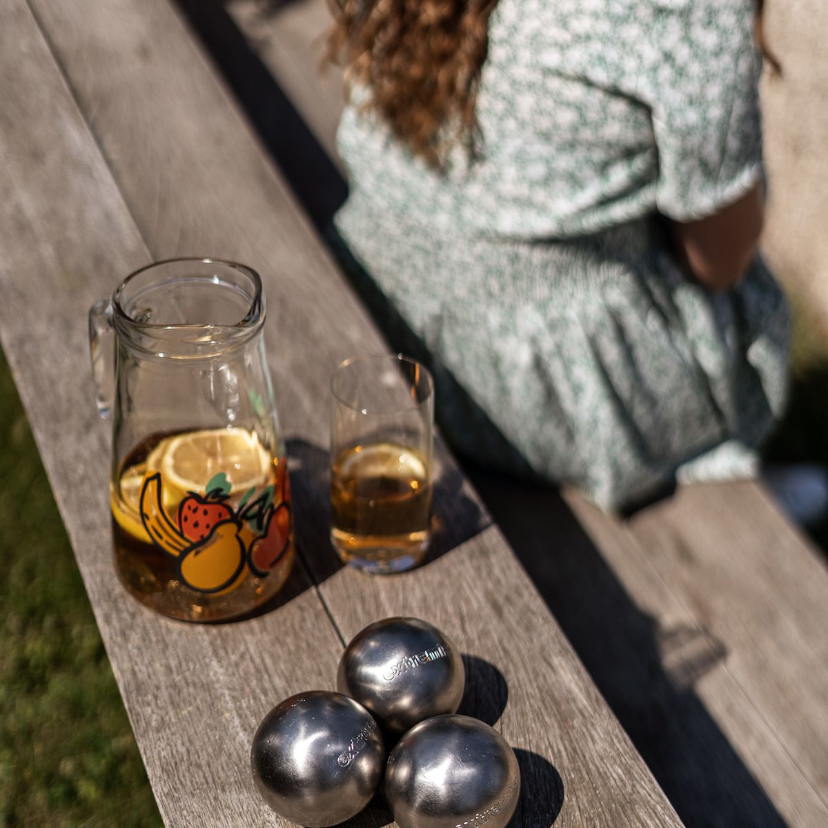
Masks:
[[[7,0],[0,89],[2,347],[166,824],[284,824],[253,789],[258,721],[284,696],[331,687],[364,624],[415,614],[465,652],[465,710],[517,749],[522,825],[681,825],[450,455],[435,561],[389,579],[337,565],[327,380],[345,355],[388,346],[174,7]],[[85,321],[132,269],[198,253],[262,273],[300,552],[277,609],[211,627],[152,614],[117,584]],[[356,824],[387,821],[374,809]]]

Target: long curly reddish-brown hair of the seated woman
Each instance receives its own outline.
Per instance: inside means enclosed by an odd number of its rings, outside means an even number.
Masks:
[[[329,0],[334,26],[326,60],[342,58],[346,89],[370,90],[366,104],[412,152],[440,167],[460,141],[474,150],[474,104],[498,0]],[[759,49],[781,71],[763,37]]]

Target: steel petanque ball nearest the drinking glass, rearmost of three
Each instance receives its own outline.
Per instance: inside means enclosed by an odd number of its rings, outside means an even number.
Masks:
[[[369,624],[345,647],[336,688],[365,705],[389,734],[460,706],[465,670],[460,651],[420,619]]]

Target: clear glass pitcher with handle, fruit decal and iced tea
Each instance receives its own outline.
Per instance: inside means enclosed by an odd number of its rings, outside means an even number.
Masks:
[[[118,575],[177,619],[248,613],[293,565],[264,318],[258,274],[214,259],[143,267],[89,311]]]

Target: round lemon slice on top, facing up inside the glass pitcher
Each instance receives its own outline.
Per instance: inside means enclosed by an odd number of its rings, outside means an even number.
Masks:
[[[158,460],[166,486],[183,497],[190,491],[204,492],[209,479],[224,472],[230,493],[240,494],[253,486],[271,482],[270,453],[254,431],[214,428],[188,431],[166,440]]]

